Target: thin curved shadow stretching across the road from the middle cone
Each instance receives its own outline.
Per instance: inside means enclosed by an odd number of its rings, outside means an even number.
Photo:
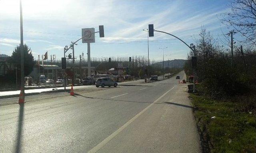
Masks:
[[[129,101],[129,100],[115,100],[115,99],[107,99],[107,98],[98,98],[98,97],[88,97],[88,96],[83,96],[80,94],[75,94],[76,96],[82,96],[84,98],[90,98],[90,99],[100,99],[100,100],[112,100],[112,101],[122,101],[122,102],[136,102],[136,101]],[[151,104],[152,102],[136,102],[136,103],[149,103]],[[186,107],[186,108],[190,108],[192,109],[192,106],[188,106],[188,105],[183,105],[183,104],[178,104],[178,103],[174,103],[174,102],[155,102],[154,104],[172,104],[172,105],[176,105],[176,106],[181,106],[181,107]]]

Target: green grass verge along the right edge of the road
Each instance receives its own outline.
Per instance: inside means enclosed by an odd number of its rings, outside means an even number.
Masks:
[[[239,111],[237,103],[227,100],[195,94],[190,98],[204,152],[256,153],[254,113]]]

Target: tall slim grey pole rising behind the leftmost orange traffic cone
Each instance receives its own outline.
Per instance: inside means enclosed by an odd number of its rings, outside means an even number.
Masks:
[[[23,46],[23,19],[22,19],[22,1],[20,0],[20,88],[22,99],[24,100],[24,46]]]

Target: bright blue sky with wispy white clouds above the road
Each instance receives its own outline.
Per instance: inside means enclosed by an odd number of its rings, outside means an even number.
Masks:
[[[48,51],[57,59],[64,47],[76,41],[82,28],[104,25],[105,37],[95,34],[91,58],[148,56],[147,29],[176,35],[195,43],[202,27],[216,37],[227,29],[218,15],[228,12],[230,0],[22,0],[24,43],[36,59]],[[0,54],[11,55],[20,43],[20,0],[0,0]],[[75,57],[87,53],[78,41]],[[150,60],[186,59],[188,47],[164,33],[149,38]],[[71,50],[66,53],[71,53]],[[41,58],[41,56],[40,56]],[[84,57],[85,59],[87,57]]]

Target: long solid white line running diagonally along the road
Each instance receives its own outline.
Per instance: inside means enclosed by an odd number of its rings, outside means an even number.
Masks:
[[[175,87],[175,86],[174,86]],[[172,90],[174,87],[172,87],[170,90]],[[100,150],[100,148],[102,148],[104,145],[106,145],[111,139],[113,139],[116,135],[118,135],[118,133],[120,133],[124,128],[126,128],[129,124],[131,124],[134,120],[136,120],[136,118],[138,118],[141,114],[143,114],[146,110],[148,110],[148,108],[150,108],[152,105],[154,105],[156,102],[158,102],[158,100],[160,100],[161,98],[163,98],[168,92],[170,92],[170,90],[168,90],[167,92],[165,92],[164,94],[162,94],[162,96],[160,96],[159,98],[157,98],[157,100],[155,100],[153,103],[151,103],[150,105],[148,105],[148,107],[144,108],[144,110],[142,110],[141,112],[139,112],[136,116],[134,116],[132,119],[130,119],[128,122],[126,122],[126,124],[124,124],[123,126],[121,126],[119,129],[117,129],[116,131],[114,131],[114,133],[112,133],[111,135],[109,135],[106,139],[104,139],[103,141],[101,141],[98,145],[96,145],[94,148],[92,148],[90,151],[88,151],[88,153],[96,153],[98,150]]]

